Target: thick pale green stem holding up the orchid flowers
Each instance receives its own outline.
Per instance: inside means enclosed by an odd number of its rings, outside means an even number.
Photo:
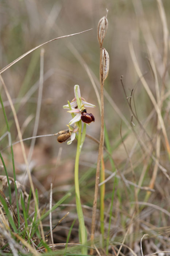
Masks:
[[[74,181],[75,181],[75,192],[76,192],[76,208],[77,208],[77,215],[78,215],[78,221],[79,221],[79,228],[80,228],[80,237],[81,237],[81,242],[82,245],[86,243],[86,228],[84,224],[84,217],[83,217],[83,212],[82,212],[82,207],[81,207],[81,202],[80,202],[80,188],[79,188],[79,181],[78,181],[78,167],[79,167],[79,158],[80,158],[80,152],[82,148],[82,144],[85,139],[85,131],[86,131],[86,125],[84,125],[83,128],[83,133],[81,136],[81,120],[78,122],[79,123],[79,130],[78,130],[78,140],[77,140],[77,152],[76,152],[76,160],[75,160],[75,169],[74,169]],[[87,248],[82,246],[82,254],[87,253]]]

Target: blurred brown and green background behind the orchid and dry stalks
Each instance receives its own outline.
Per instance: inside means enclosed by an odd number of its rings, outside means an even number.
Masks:
[[[165,8],[167,25],[170,27],[170,1],[163,0],[162,3]],[[87,133],[99,139],[100,110],[95,91],[84,65],[81,63],[81,58],[88,66],[99,91],[100,54],[97,42],[97,24],[99,19],[106,14],[106,8],[109,10],[107,16],[109,26],[104,40],[104,47],[109,53],[110,68],[108,78],[105,81],[105,91],[107,94],[105,94],[104,101],[105,125],[112,148],[112,156],[119,171],[123,173],[125,178],[135,183],[138,183],[143,167],[146,165],[147,171],[142,186],[148,187],[155,162],[147,156],[147,151],[144,151],[143,148],[141,149],[141,145],[138,143],[133,129],[131,129],[132,113],[128,108],[120,77],[123,75],[123,83],[128,96],[131,95],[131,90],[134,88],[132,106],[137,113],[138,119],[144,124],[150,113],[154,110],[148,94],[136,74],[130,55],[129,42],[131,41],[134,45],[143,77],[146,79],[154,97],[156,97],[155,81],[148,61],[150,58],[148,48],[152,49],[160,90],[162,86],[165,86],[165,92],[168,92],[168,75],[164,80],[164,84],[162,83],[163,27],[156,0],[1,0],[0,68],[5,67],[31,48],[52,38],[92,28],[88,32],[59,39],[44,46],[43,98],[37,135],[56,133],[66,129],[66,124],[70,120],[70,114],[66,113],[62,106],[67,104],[67,100],[71,101],[73,99],[73,87],[75,84],[79,84],[82,97],[96,105],[95,109],[90,109],[89,111],[95,116],[95,123],[90,124],[87,128]],[[77,57],[77,54],[80,54],[80,56]],[[39,86],[39,67],[40,49],[24,57],[2,74],[15,103],[20,127],[23,127],[23,138],[31,137],[34,128]],[[167,59],[166,70],[167,72],[169,71],[169,59]],[[0,91],[10,124],[12,142],[15,142],[18,140],[18,134],[11,108],[1,85]],[[168,114],[170,105],[168,99],[163,102],[162,115],[165,120],[167,135],[170,135],[170,119]],[[129,154],[131,153],[130,157],[136,176],[135,181],[128,155],[121,141],[120,126],[122,119],[121,133],[122,136],[125,136],[124,143],[127,151]],[[135,124],[134,130],[139,134],[141,127],[136,120],[133,119],[133,122]],[[145,129],[155,145],[155,136],[158,132],[156,112],[150,117]],[[6,126],[3,113],[0,110],[0,136],[5,131]],[[142,135],[142,141],[147,147],[150,147],[150,141],[146,133]],[[170,163],[162,134],[161,142],[160,161],[169,170]],[[135,143],[137,146],[135,146]],[[26,141],[25,145],[28,151],[30,141]],[[0,141],[0,149],[3,150],[6,146],[8,146],[7,137]],[[133,151],[132,148],[134,148]],[[84,177],[84,180],[81,180],[82,202],[89,206],[92,206],[93,203],[94,165],[97,161],[97,152],[97,144],[87,138],[81,154],[80,177]],[[154,152],[153,148],[150,149],[150,152]],[[19,144],[14,146],[14,153],[17,177],[19,179],[19,176],[22,176],[23,173],[22,164],[24,163]],[[59,199],[65,191],[69,191],[72,188],[74,184],[75,153],[76,142],[67,146],[66,143],[59,144],[55,137],[45,137],[36,140],[32,157],[32,161],[34,161],[32,175],[35,177],[35,179],[33,178],[35,187],[39,189],[40,193],[48,191],[51,182],[53,182],[54,198],[56,199]],[[3,151],[3,155],[8,166],[9,176],[12,176],[12,163],[9,151]],[[106,176],[108,176],[113,170],[107,157],[105,160],[105,167],[108,170]],[[87,173],[86,177],[85,173]],[[1,174],[4,174],[3,169],[1,169]],[[134,187],[128,187],[126,194],[122,180],[119,180],[117,186],[116,191],[119,190],[117,194],[119,200],[115,197],[114,214],[115,216],[116,214],[117,216],[119,215],[116,207],[120,207],[120,218],[118,219],[121,225],[125,225],[127,215],[124,212],[130,213],[130,202],[135,200]],[[106,185],[106,206],[109,206],[111,202],[112,187],[113,179]],[[26,188],[29,191],[29,184],[26,184]],[[160,170],[158,171],[154,188],[156,191],[152,192],[151,202],[158,202],[158,200],[162,202],[162,199],[169,197],[169,180]],[[48,193],[46,196],[48,197]],[[139,201],[143,201],[146,197],[146,191],[141,190],[138,196]],[[86,214],[90,217],[91,213],[85,212]],[[159,218],[160,226],[163,223],[165,226],[168,226],[167,218]],[[150,218],[150,220],[149,222],[158,227],[158,221],[155,218]],[[117,220],[115,220],[116,224]]]

